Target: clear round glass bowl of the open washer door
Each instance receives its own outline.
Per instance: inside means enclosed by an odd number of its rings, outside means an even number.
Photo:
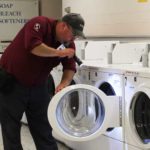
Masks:
[[[75,102],[76,105],[72,105]],[[102,100],[90,90],[77,89],[59,101],[56,116],[59,126],[70,135],[88,136],[101,126],[105,110]]]

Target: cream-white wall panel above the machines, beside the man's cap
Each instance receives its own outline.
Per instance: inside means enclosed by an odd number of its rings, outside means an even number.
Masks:
[[[150,2],[139,0],[63,0],[85,19],[86,36],[150,37]]]

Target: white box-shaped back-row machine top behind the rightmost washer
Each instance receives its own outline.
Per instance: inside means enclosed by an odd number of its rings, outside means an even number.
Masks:
[[[148,66],[148,43],[118,43],[112,52],[112,64]]]

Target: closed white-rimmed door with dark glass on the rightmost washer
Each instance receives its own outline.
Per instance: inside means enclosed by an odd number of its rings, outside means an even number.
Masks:
[[[132,96],[129,106],[131,135],[138,146],[150,148],[150,88],[140,87]]]

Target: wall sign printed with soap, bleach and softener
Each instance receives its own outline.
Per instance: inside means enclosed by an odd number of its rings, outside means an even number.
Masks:
[[[0,41],[11,41],[29,19],[38,15],[38,0],[0,0]]]

